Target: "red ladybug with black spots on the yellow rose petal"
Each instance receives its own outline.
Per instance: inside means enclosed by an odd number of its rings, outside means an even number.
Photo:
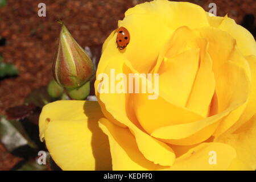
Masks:
[[[124,49],[130,42],[129,31],[125,27],[120,27],[117,32],[117,48]]]

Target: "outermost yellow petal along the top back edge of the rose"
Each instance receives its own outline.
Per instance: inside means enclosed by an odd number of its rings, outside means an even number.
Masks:
[[[209,26],[204,9],[188,2],[172,2],[167,0],[146,2],[127,10],[125,16],[135,14],[158,16],[172,30],[176,30],[176,28],[181,26],[188,26],[190,28]]]

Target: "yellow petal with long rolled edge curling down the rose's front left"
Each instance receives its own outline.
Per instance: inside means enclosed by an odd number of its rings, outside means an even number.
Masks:
[[[127,60],[123,56],[116,56],[110,57],[106,61],[109,63],[108,67],[106,67],[105,71],[103,72],[97,72],[97,77],[98,74],[105,73],[106,75],[108,75],[109,78],[111,78],[112,76],[110,76],[110,70],[113,68],[115,69],[115,75],[117,75],[118,73],[123,73],[124,62]],[[96,90],[99,84],[100,81],[96,80]],[[110,88],[111,87],[109,87],[109,89]],[[127,102],[127,100],[129,99],[129,94],[98,93],[97,91],[96,94],[98,100],[101,101],[102,110],[105,109],[106,112],[111,115],[111,117],[108,117],[108,119],[114,123],[117,123],[118,121],[118,123],[129,127],[129,129],[135,136],[139,151],[142,152],[146,159],[162,166],[171,166],[172,163],[174,163],[174,151],[172,151],[172,149],[167,146],[167,144],[164,144],[163,142],[160,142],[150,137],[150,135],[144,133],[144,131],[139,129],[139,127],[134,123],[134,120],[133,122],[131,122],[131,113],[127,109],[127,105],[129,105],[129,103]],[[154,151],[151,150],[152,148],[154,148]]]

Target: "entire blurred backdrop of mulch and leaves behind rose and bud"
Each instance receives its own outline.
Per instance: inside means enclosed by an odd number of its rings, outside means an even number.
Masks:
[[[38,151],[47,151],[38,138],[38,116],[44,104],[56,100],[47,93],[52,59],[62,20],[93,61],[101,45],[130,7],[144,0],[0,0],[0,170],[59,169],[47,154],[39,165]],[[217,15],[236,20],[255,38],[255,0],[191,0]],[[46,17],[38,4],[46,4]],[[5,68],[5,69],[2,69]],[[93,95],[91,84],[90,95]]]

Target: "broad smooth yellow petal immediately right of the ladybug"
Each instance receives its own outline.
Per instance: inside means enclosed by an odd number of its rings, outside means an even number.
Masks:
[[[118,22],[118,27],[125,27],[130,34],[130,43],[120,54],[125,56],[138,72],[150,72],[156,63],[160,48],[172,34],[170,28],[158,16],[151,14],[126,16]]]

